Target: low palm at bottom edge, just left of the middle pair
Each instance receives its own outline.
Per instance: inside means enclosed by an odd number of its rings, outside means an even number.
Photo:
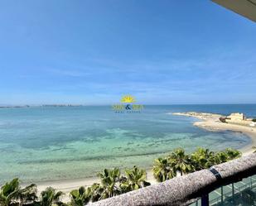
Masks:
[[[71,206],[84,206],[89,203],[92,193],[91,189],[85,187],[80,187],[79,189],[74,189],[70,192]]]

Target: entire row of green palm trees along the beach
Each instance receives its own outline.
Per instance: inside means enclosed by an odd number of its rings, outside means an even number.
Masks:
[[[256,152],[256,146],[253,147]],[[227,148],[225,151],[210,151],[199,147],[191,154],[186,154],[184,149],[177,148],[169,156],[159,157],[154,161],[152,171],[157,181],[163,182],[181,175],[191,173],[195,170],[208,169],[213,165],[241,156],[241,152]],[[146,170],[133,166],[132,169],[121,170],[118,168],[105,169],[99,174],[100,183],[94,183],[90,187],[80,187],[70,192],[70,203],[64,204],[60,201],[62,192],[51,187],[41,192],[41,199],[37,201],[36,184],[25,188],[20,186],[18,179],[14,179],[2,185],[0,190],[1,206],[84,206],[89,202],[107,199],[118,194],[127,193],[150,185],[147,182]]]

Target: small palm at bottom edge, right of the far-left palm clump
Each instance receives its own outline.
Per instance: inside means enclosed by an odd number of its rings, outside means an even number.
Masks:
[[[46,190],[41,192],[41,206],[51,206],[52,204],[63,205],[60,201],[63,194],[61,191],[56,192],[56,189],[52,187],[46,188]]]

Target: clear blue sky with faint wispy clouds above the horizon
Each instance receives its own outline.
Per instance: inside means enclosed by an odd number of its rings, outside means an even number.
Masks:
[[[256,103],[256,24],[206,0],[0,2],[0,104]]]

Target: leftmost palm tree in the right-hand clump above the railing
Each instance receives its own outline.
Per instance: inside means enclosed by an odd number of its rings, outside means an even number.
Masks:
[[[176,176],[176,170],[173,170],[167,158],[158,158],[153,165],[153,175],[158,182],[170,180]]]

